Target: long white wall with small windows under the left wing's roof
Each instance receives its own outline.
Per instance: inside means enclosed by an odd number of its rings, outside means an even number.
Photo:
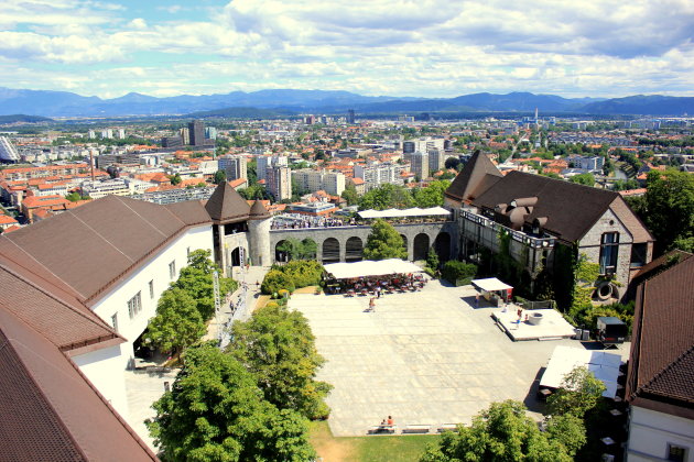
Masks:
[[[212,251],[212,227],[207,224],[193,228],[180,235],[91,307],[93,311],[109,326],[111,324],[111,317],[118,314],[118,333],[128,340],[128,343],[121,345],[122,369],[133,358],[132,342],[144,332],[149,319],[156,314],[156,302],[162,293],[178,277],[181,268],[187,265],[188,249],[191,252],[198,249]],[[169,264],[173,261],[176,262],[176,274],[172,278],[169,274]],[[150,297],[150,280],[154,282],[153,298]],[[142,310],[133,319],[130,319],[128,300],[138,292],[141,293]]]

